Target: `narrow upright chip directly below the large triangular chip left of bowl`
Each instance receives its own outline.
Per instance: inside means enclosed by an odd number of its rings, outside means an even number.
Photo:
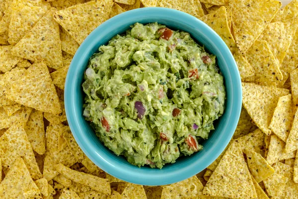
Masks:
[[[43,114],[39,110],[33,109],[25,126],[32,149],[38,154],[45,153],[45,129]]]

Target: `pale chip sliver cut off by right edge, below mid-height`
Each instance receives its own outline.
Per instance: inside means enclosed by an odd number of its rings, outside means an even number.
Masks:
[[[285,151],[292,152],[298,149],[298,109],[295,113],[295,118],[292,124],[291,131],[289,133],[289,137],[286,142]],[[288,159],[288,158],[286,158]]]

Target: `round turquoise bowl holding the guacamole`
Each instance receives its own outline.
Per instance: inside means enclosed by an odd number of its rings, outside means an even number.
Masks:
[[[89,58],[117,34],[124,33],[130,25],[158,22],[172,29],[189,32],[193,39],[204,45],[209,53],[217,56],[217,63],[224,76],[226,101],[224,114],[215,124],[209,139],[201,143],[202,151],[180,157],[174,164],[162,169],[137,167],[122,156],[115,155],[96,137],[83,117],[84,93],[82,82]],[[65,110],[74,138],[82,151],[108,174],[140,185],[167,185],[190,178],[207,168],[224,151],[238,123],[242,103],[239,71],[235,60],[221,37],[201,20],[187,13],[160,7],[139,8],[121,13],[97,27],[76,51],[69,68],[65,85]]]

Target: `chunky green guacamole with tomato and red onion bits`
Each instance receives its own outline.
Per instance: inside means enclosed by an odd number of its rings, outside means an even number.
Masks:
[[[215,56],[184,31],[136,23],[99,47],[84,75],[84,112],[96,135],[137,166],[162,168],[203,149],[224,112]]]

